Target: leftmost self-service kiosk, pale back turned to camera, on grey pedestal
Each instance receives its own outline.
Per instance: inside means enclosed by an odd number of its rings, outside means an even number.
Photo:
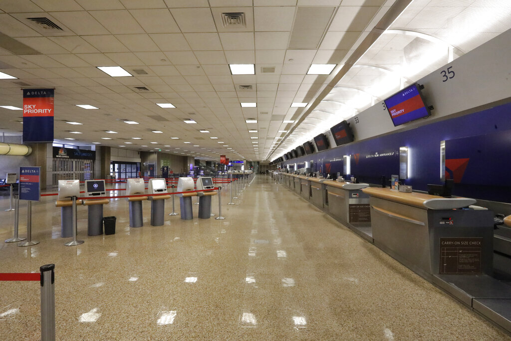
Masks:
[[[62,238],[73,236],[73,197],[80,196],[80,181],[79,180],[59,180],[59,194],[56,207],[62,208],[60,236]],[[81,203],[77,201],[77,205]]]

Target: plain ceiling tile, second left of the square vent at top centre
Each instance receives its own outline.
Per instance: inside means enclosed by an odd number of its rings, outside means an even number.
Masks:
[[[145,2],[145,1],[144,1]],[[141,3],[144,3],[141,2]],[[138,24],[146,31],[146,33],[179,33],[174,18],[170,11],[165,9],[140,9],[130,10],[131,15],[138,21]],[[162,23],[165,23],[162,25]]]

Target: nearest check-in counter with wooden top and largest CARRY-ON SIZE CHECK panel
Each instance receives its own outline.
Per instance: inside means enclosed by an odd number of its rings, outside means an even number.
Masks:
[[[368,187],[375,245],[428,280],[493,272],[493,212],[470,198]],[[437,275],[438,276],[438,275]]]

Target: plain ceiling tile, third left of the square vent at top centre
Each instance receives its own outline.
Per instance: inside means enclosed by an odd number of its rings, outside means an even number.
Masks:
[[[88,2],[90,0],[83,0]],[[104,3],[103,0],[99,0]],[[122,5],[121,5],[122,6]],[[144,29],[138,25],[131,14],[126,11],[91,11],[90,14],[96,18],[112,34],[135,34],[144,33]]]

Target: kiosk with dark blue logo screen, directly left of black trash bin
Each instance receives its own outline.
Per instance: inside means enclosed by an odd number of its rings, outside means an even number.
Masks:
[[[105,180],[86,180],[85,196],[105,196]],[[108,199],[84,200],[88,206],[87,235],[98,236],[103,234],[103,205],[108,204]]]

